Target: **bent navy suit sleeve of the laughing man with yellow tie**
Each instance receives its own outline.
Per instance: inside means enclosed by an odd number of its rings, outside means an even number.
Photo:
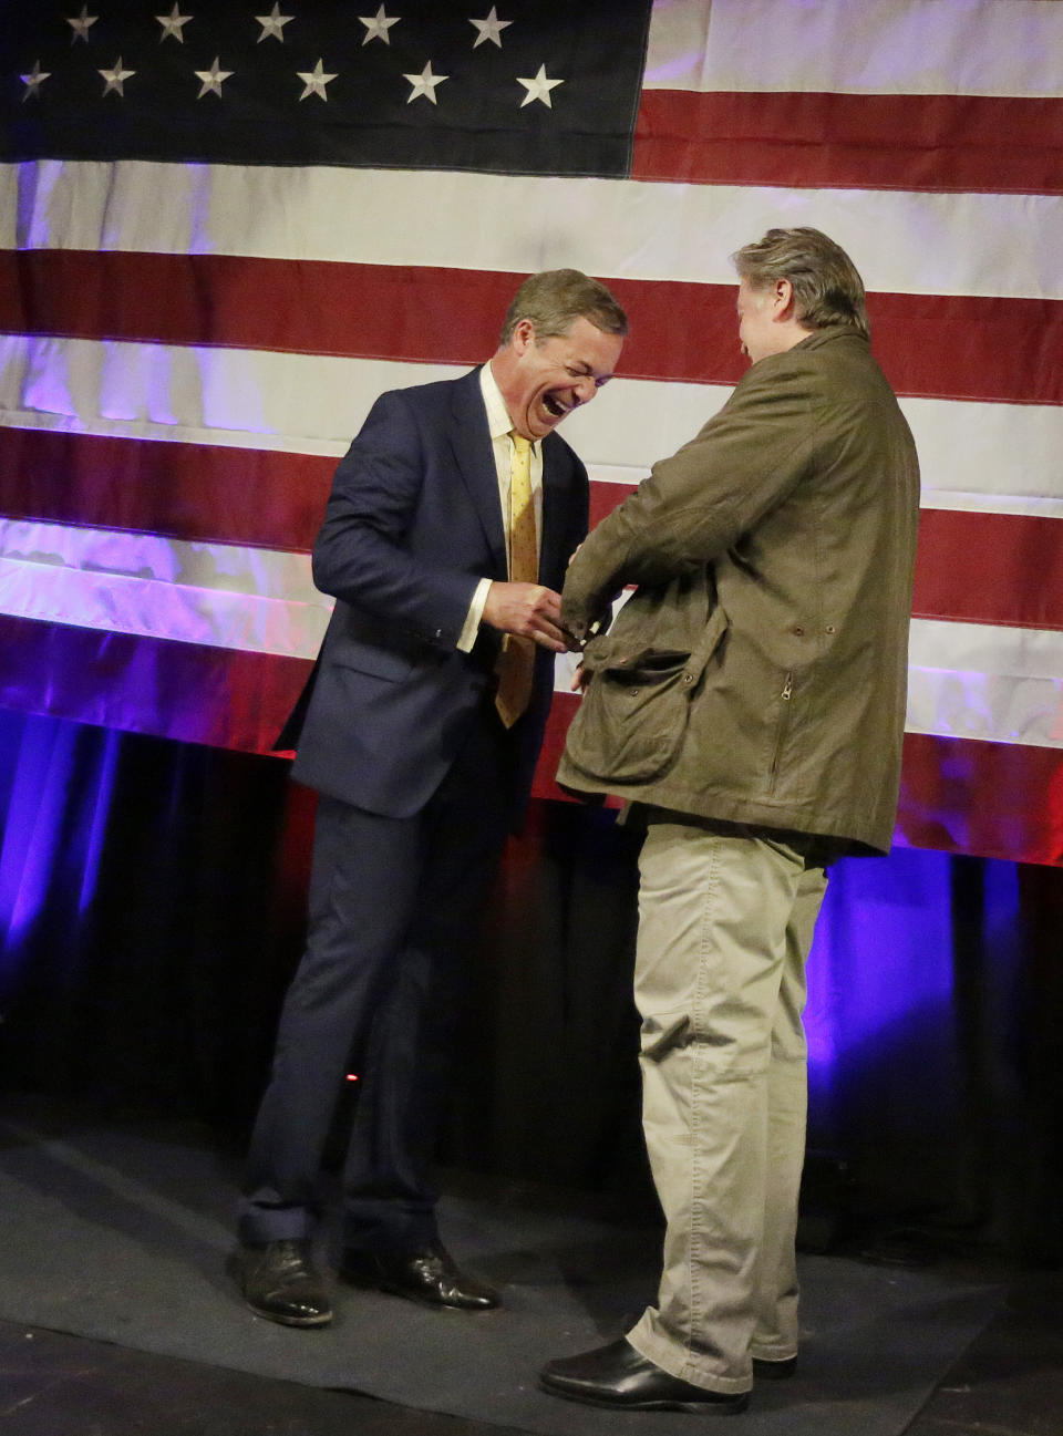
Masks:
[[[444,554],[411,551],[404,538],[425,478],[424,435],[408,398],[381,395],[336,468],[313,547],[322,593],[452,646],[477,579]]]

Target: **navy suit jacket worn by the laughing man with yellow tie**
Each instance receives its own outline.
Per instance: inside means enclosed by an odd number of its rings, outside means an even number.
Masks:
[[[588,477],[543,441],[540,583],[560,592],[588,530]],[[442,781],[493,682],[501,635],[455,648],[478,579],[507,577],[498,478],[480,370],[384,393],[340,461],[313,550],[336,597],[315,672],[277,742],[293,775],[371,813],[408,817]],[[539,651],[514,724],[514,820],[527,801],[553,692]]]

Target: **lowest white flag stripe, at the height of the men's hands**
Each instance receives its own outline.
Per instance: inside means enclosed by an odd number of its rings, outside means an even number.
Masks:
[[[0,612],[312,659],[332,600],[305,554],[0,523]],[[557,662],[569,692],[577,658]],[[1063,747],[1063,633],[916,619],[909,732]]]

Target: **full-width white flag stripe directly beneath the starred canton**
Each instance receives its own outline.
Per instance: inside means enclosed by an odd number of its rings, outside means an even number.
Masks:
[[[556,220],[527,224],[529,213]],[[1063,299],[1060,195],[147,161],[0,165],[0,248],[516,273],[575,266],[605,280],[733,284],[728,256],[773,224],[826,230],[869,290]]]

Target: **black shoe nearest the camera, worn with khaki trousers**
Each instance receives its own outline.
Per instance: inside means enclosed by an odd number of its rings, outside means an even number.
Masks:
[[[547,1361],[539,1381],[550,1396],[586,1406],[611,1406],[618,1412],[705,1412],[737,1416],[750,1404],[750,1393],[725,1396],[681,1381],[648,1361],[621,1337],[608,1347],[583,1356]]]

